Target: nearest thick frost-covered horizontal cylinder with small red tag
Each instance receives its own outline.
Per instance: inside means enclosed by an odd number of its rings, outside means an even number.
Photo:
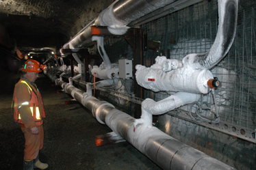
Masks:
[[[179,68],[170,72],[162,69],[136,66],[136,81],[138,85],[153,91],[183,91],[195,94],[207,94],[207,81],[214,76],[209,70],[192,70]]]

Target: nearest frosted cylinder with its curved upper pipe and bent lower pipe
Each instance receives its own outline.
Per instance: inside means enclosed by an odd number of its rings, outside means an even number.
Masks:
[[[233,44],[238,18],[238,0],[218,0],[218,33],[216,40],[204,54],[192,53],[181,61],[157,57],[151,68],[136,66],[136,81],[146,89],[166,91],[175,94],[155,102],[146,99],[142,102],[142,116],[136,119],[133,126],[138,124],[151,128],[152,115],[159,115],[181,107],[184,104],[196,102],[200,94],[207,94],[207,81],[213,79],[208,70],[227,55]],[[217,117],[218,118],[218,117]]]

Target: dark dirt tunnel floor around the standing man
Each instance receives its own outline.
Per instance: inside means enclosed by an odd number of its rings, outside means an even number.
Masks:
[[[23,169],[25,140],[20,126],[12,123],[11,112],[14,85],[21,75],[1,72],[0,169]],[[112,130],[97,122],[80,104],[65,104],[72,98],[58,94],[61,87],[44,74],[36,84],[46,111],[40,160],[49,164],[48,169],[160,169],[127,142],[97,147],[95,136]]]

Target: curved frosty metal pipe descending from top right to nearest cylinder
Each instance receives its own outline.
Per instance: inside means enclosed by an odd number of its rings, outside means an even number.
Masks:
[[[210,69],[227,53],[235,38],[238,0],[218,0],[218,32],[212,48],[205,54],[189,54],[182,60],[187,68]]]

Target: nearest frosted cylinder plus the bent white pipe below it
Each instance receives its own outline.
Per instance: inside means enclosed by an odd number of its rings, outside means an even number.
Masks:
[[[143,124],[152,128],[152,115],[160,115],[181,107],[185,104],[196,102],[200,94],[207,94],[209,87],[207,81],[213,79],[209,70],[194,70],[182,67],[177,59],[157,57],[151,68],[136,66],[136,81],[142,87],[153,91],[177,92],[168,98],[155,102],[147,98],[142,102],[142,115],[136,119],[133,126]]]

